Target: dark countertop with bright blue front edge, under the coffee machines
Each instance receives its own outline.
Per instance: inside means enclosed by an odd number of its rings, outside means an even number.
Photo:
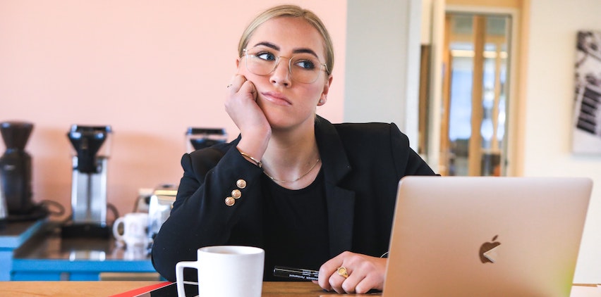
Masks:
[[[61,238],[47,223],[13,253],[13,280],[101,280],[104,274],[152,274],[147,248],[123,248],[114,238]]]

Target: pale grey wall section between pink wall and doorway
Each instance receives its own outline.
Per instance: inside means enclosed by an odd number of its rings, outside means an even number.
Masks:
[[[348,0],[344,121],[395,122],[417,147],[420,0]]]

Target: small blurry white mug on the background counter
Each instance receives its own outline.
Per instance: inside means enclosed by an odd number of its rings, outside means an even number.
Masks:
[[[123,234],[119,232],[119,225],[123,224]],[[113,224],[115,239],[125,242],[127,248],[133,246],[146,246],[148,244],[148,214],[127,213],[119,217]]]

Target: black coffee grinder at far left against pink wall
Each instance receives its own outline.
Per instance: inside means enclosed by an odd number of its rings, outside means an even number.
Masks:
[[[1,122],[0,132],[6,151],[0,157],[1,195],[6,201],[8,217],[35,220],[36,206],[32,202],[31,156],[25,151],[33,124],[31,122]],[[43,216],[43,215],[42,215]]]

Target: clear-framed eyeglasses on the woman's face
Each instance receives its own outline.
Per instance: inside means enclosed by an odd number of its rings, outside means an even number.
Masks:
[[[327,70],[327,65],[321,63],[319,59],[310,53],[300,53],[288,58],[275,56],[267,48],[254,47],[253,49],[244,49],[244,55],[246,69],[255,75],[268,75],[274,72],[280,58],[286,58],[288,59],[288,69],[291,79],[303,84],[315,82],[317,77],[320,76],[320,72]]]

